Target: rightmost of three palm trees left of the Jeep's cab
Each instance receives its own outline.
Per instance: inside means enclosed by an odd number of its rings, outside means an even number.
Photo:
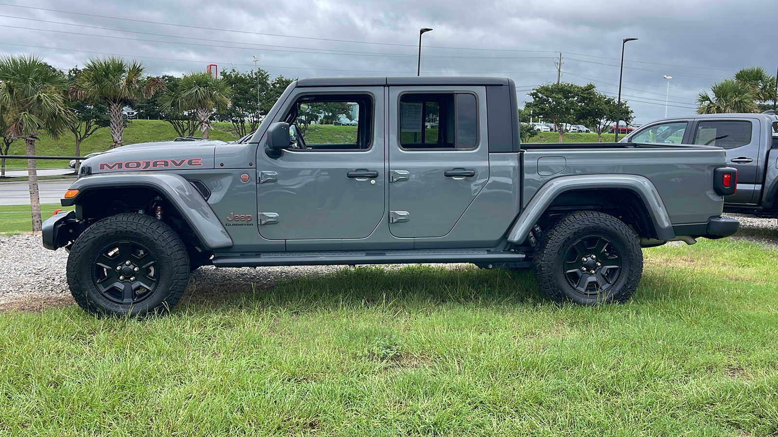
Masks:
[[[212,129],[211,114],[226,109],[230,96],[232,89],[222,79],[209,72],[192,72],[181,78],[176,92],[169,91],[160,97],[159,106],[165,111],[195,111],[202,138],[208,139],[208,131]]]

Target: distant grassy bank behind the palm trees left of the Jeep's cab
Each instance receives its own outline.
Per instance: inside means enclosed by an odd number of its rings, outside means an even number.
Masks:
[[[226,128],[231,126],[229,123],[216,123],[214,130],[209,132],[211,139],[233,141],[237,139]],[[199,132],[195,136],[200,135]],[[138,142],[156,142],[170,141],[176,138],[176,131],[173,126],[166,121],[159,120],[132,120],[127,128],[124,128],[122,139],[124,144],[135,144]],[[112,141],[108,128],[102,128],[96,131],[94,135],[86,138],[81,143],[81,156],[86,156],[92,152],[103,152],[110,149]],[[35,153],[40,156],[75,156],[75,140],[72,134],[63,134],[60,138],[51,138],[42,135],[40,141],[35,143]],[[9,155],[26,155],[24,142],[16,140],[9,149]],[[7,159],[6,168],[26,168],[26,159]],[[67,167],[67,160],[38,160],[38,168]]]

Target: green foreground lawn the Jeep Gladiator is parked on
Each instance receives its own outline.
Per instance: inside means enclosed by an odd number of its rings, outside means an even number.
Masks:
[[[645,250],[624,305],[531,274],[202,285],[170,316],[0,313],[0,435],[775,435],[776,250]]]

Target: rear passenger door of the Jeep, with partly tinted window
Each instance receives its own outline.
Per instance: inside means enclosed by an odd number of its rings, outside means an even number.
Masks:
[[[445,236],[489,179],[485,89],[394,86],[389,100],[391,233]]]

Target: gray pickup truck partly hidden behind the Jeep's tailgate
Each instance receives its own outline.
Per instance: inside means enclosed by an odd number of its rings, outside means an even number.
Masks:
[[[654,121],[621,142],[716,145],[738,170],[737,191],[724,212],[778,217],[778,117],[774,114],[696,114]]]

